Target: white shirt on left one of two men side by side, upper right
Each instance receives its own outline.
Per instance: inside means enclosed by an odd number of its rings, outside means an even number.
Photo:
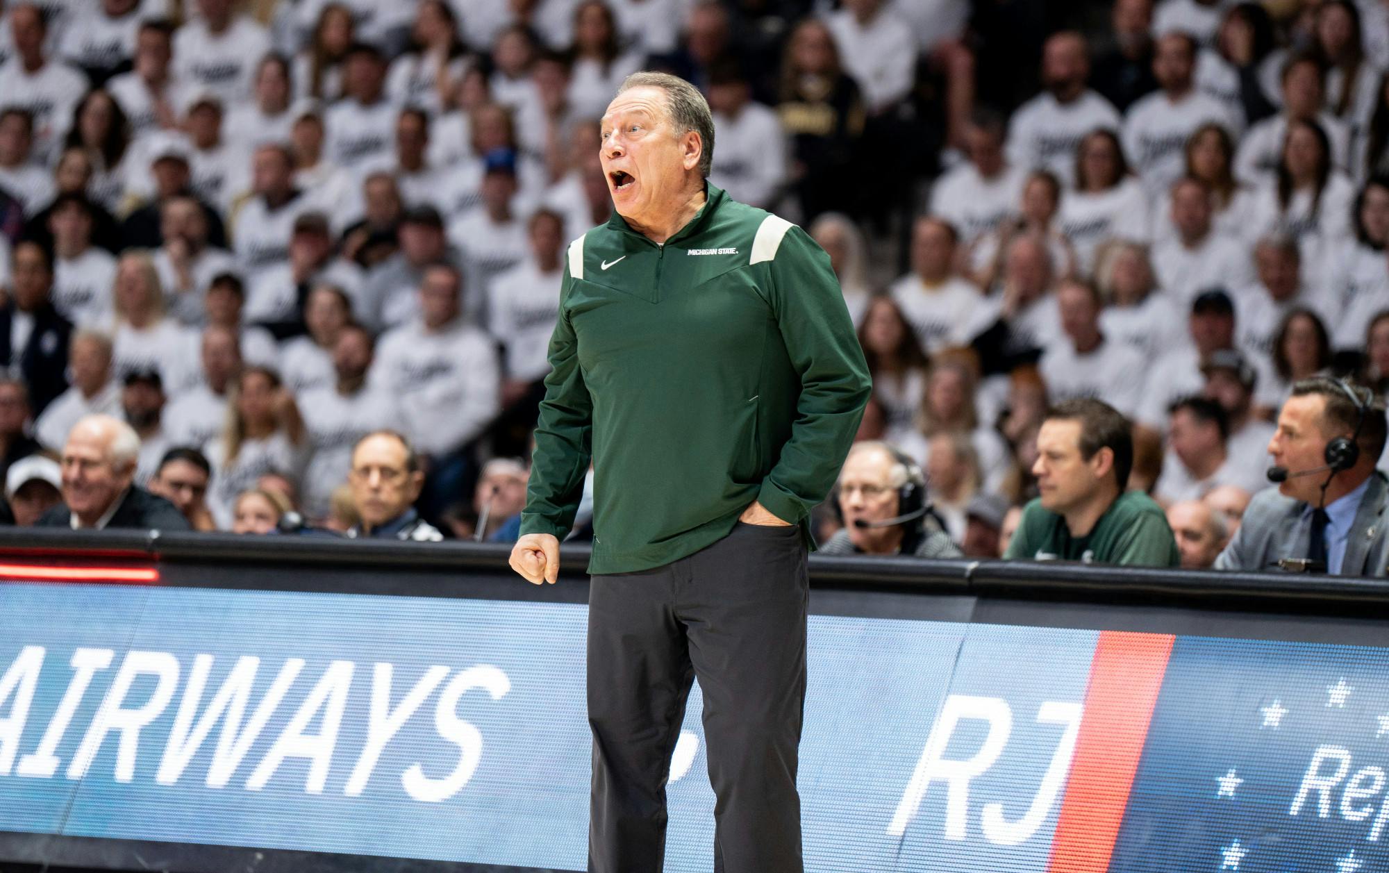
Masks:
[[[1120,114],[1108,100],[1086,90],[1071,103],[1060,103],[1042,92],[1013,114],[1008,160],[1026,170],[1050,170],[1070,186],[1075,182],[1075,150],[1096,128],[1121,128]]]

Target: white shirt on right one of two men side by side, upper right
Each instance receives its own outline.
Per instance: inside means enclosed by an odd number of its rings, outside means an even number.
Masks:
[[[1150,193],[1167,190],[1186,168],[1186,140],[1196,128],[1215,122],[1239,135],[1235,118],[1215,97],[1190,90],[1172,100],[1157,90],[1129,107],[1124,118],[1124,154]]]

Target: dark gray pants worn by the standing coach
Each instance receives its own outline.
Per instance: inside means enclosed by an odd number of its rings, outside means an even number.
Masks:
[[[661,870],[665,781],[696,677],[717,798],[714,869],[801,873],[808,588],[799,525],[743,521],[663,567],[592,577],[590,873]]]

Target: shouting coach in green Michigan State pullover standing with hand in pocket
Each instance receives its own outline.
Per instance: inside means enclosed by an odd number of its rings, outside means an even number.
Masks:
[[[771,145],[768,145],[771,147]],[[808,516],[871,391],[828,256],[707,182],[704,97],[629,76],[603,117],[614,214],[569,245],[521,538],[556,581],[593,462],[589,870],[660,870],[693,678],[718,869],[799,873]]]

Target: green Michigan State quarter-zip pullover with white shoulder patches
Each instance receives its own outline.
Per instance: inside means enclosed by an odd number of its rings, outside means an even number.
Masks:
[[[872,389],[825,252],[707,195],[664,245],[614,213],[568,247],[521,534],[564,539],[592,459],[593,574],[692,555],[753,500],[814,549]]]

